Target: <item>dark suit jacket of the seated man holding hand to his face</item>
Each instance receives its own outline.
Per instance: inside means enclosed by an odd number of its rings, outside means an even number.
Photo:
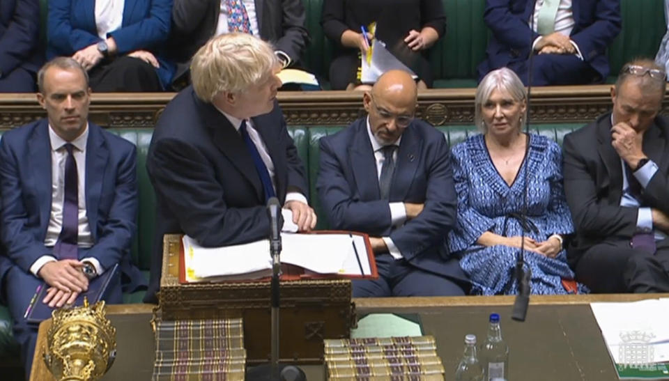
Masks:
[[[567,251],[573,266],[599,242],[624,242],[636,232],[638,208],[620,206],[622,164],[611,146],[611,116],[564,137],[564,193],[576,228]],[[597,149],[593,150],[593,144]],[[669,121],[658,116],[643,137],[643,152],[659,166],[643,192],[643,205],[669,215]]]

